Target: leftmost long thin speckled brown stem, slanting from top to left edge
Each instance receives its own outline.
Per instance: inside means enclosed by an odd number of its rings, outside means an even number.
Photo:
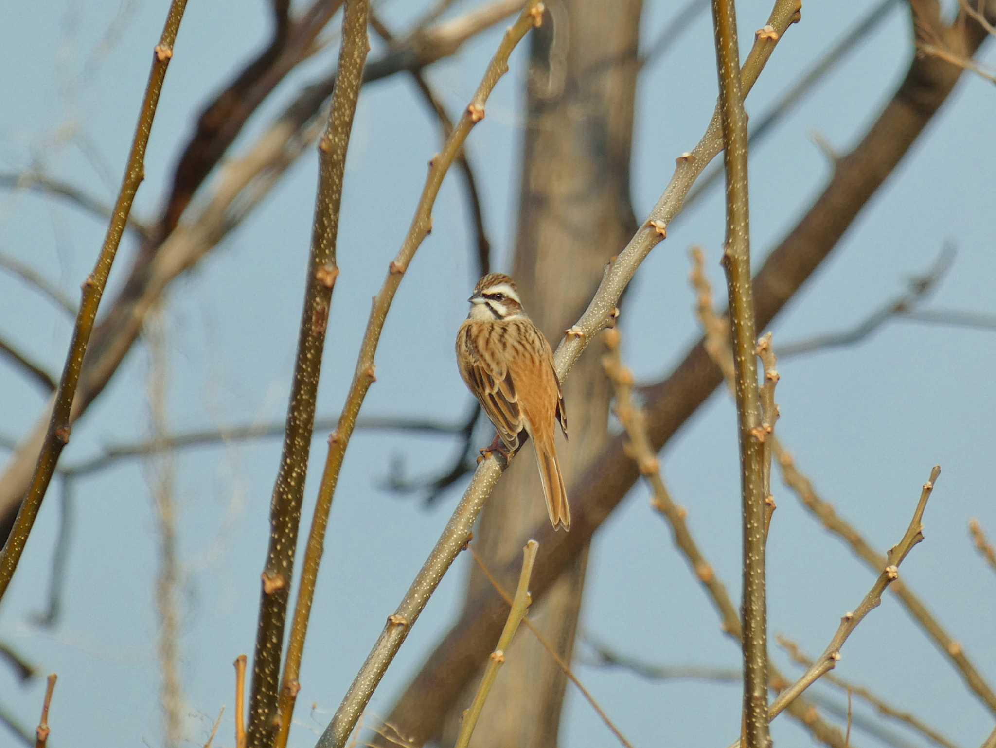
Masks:
[[[17,569],[17,564],[21,560],[21,554],[28,542],[28,536],[31,534],[31,528],[35,524],[38,511],[41,509],[42,499],[45,498],[45,492],[52,480],[59,455],[69,443],[73,398],[76,394],[77,383],[80,380],[83,359],[87,353],[91,333],[94,330],[101,297],[104,295],[108,276],[111,274],[111,266],[118,252],[118,246],[121,244],[127,216],[131,212],[131,203],[138,191],[138,185],[144,178],[145,146],[148,143],[152,121],[155,118],[155,109],[159,102],[159,93],[162,91],[162,82],[166,77],[169,60],[173,56],[173,43],[176,41],[176,32],[179,30],[185,8],[186,0],[172,0],[159,43],[153,50],[152,69],[148,74],[148,84],[145,87],[145,96],[142,100],[141,112],[138,115],[138,125],[131,141],[121,192],[115,201],[114,217],[108,227],[108,233],[104,239],[101,254],[97,258],[97,264],[83,284],[83,297],[76,318],[73,340],[66,357],[66,367],[56,392],[48,431],[42,444],[41,453],[38,455],[31,485],[21,503],[21,508],[18,510],[14,527],[7,538],[3,551],[0,551],[0,600],[3,600],[10,580],[14,576],[14,570]]]

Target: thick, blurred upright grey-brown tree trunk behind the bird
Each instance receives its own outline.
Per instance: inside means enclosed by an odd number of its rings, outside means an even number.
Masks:
[[[635,230],[629,151],[640,4],[551,4],[548,22],[533,37],[512,275],[527,312],[554,348],[591,299],[609,258]],[[607,440],[611,386],[600,358],[596,352],[585,357],[565,388],[571,440],[559,440],[558,453],[568,485]],[[484,510],[474,544],[491,566],[515,553],[524,533],[546,517],[532,452],[527,444]],[[587,553],[530,612],[568,661],[586,565]],[[514,589],[512,580],[503,584]],[[488,587],[482,574],[473,574],[467,600]],[[557,745],[567,679],[536,637],[525,627],[520,631],[477,724],[478,748]],[[476,687],[475,680],[448,715],[444,745],[455,738]]]

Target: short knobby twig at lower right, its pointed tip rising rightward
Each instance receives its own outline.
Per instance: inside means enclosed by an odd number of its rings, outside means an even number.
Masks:
[[[823,654],[820,655],[816,662],[813,663],[802,677],[782,691],[778,698],[775,699],[771,705],[770,719],[774,719],[781,714],[785,707],[792,703],[793,699],[797,698],[822,675],[837,666],[837,662],[841,658],[841,647],[844,646],[844,642],[848,640],[848,637],[858,627],[858,624],[862,623],[865,617],[879,606],[881,603],[881,594],[885,592],[885,588],[898,579],[898,568],[902,560],[906,558],[906,555],[912,550],[913,546],[923,540],[923,525],[921,522],[923,519],[923,510],[926,509],[927,499],[930,498],[934,482],[939,475],[940,466],[935,465],[930,471],[930,478],[923,484],[923,488],[920,491],[920,500],[916,504],[909,527],[906,528],[906,532],[898,544],[889,549],[885,559],[886,566],[874,581],[868,595],[865,596],[854,612],[848,612],[843,616],[837,632],[831,638],[830,643],[827,644],[827,648],[824,649]],[[734,745],[739,744],[739,741],[737,741]]]

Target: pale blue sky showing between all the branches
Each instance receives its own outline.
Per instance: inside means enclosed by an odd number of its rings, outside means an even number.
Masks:
[[[380,6],[381,16],[400,30],[424,4],[390,0]],[[470,4],[457,4],[456,12]],[[154,214],[194,114],[267,39],[265,5],[191,0],[149,142],[147,178],[135,200],[135,215]],[[839,4],[808,3],[803,22],[785,35],[754,89],[749,113],[766,112],[849,28],[852,16],[860,17],[871,5],[854,3],[845,11]],[[7,103],[0,112],[0,168],[40,164],[111,202],[147,75],[148,50],[166,7],[164,0],[105,1],[84,12],[75,3],[54,0],[45,13],[25,4],[8,9],[0,28],[0,60],[6,70],[19,73],[0,85]],[[738,4],[743,39],[763,25],[769,10],[768,3],[754,0]],[[648,0],[644,39],[653,38],[672,12],[670,3]],[[481,35],[428,72],[451,111],[465,106],[499,34],[500,29]],[[668,54],[642,73],[632,165],[638,216],[657,199],[673,158],[694,145],[711,114],[716,91],[711,40],[708,14],[702,14]],[[910,48],[908,14],[895,3],[858,50],[752,150],[755,262],[794,225],[830,176],[831,164],[813,143],[813,133],[837,149],[849,149],[901,80]],[[487,120],[468,141],[499,269],[510,266],[516,222],[523,52],[513,56],[511,74],[489,102]],[[281,104],[326,70],[334,55],[329,48],[291,76],[246,128],[234,152],[252,143]],[[992,45],[982,58],[996,63]],[[864,319],[900,292],[908,276],[926,270],[945,242],[957,247],[956,260],[925,308],[996,312],[989,219],[996,161],[984,140],[994,114],[991,84],[965,76],[832,257],[778,318],[772,328],[776,351],[780,342],[845,329]],[[425,161],[437,148],[433,117],[405,77],[364,89],[346,175],[342,276],[333,302],[320,414],[334,415],[342,406],[370,297],[400,244]],[[170,428],[283,417],[315,174],[316,158],[309,150],[245,223],[170,287],[165,310]],[[638,378],[655,379],[669,371],[699,335],[686,281],[689,245],[706,248],[710,276],[722,296],[716,262],[722,210],[722,189],[715,187],[640,268],[622,317],[623,356]],[[474,281],[467,218],[458,182],[449,177],[434,211],[432,235],[406,274],[384,329],[377,382],[365,414],[456,421],[466,411],[470,396],[452,360],[452,341]],[[105,228],[75,207],[27,191],[0,194],[0,252],[30,263],[74,297]],[[125,277],[133,250],[133,240],[126,237],[107,299]],[[0,335],[50,371],[61,369],[71,324],[9,276],[0,277],[0,320]],[[991,625],[996,575],[977,557],[966,533],[968,519],[977,517],[996,536],[990,475],[994,363],[992,332],[894,321],[857,346],[782,362],[778,430],[817,488],[882,551],[901,537],[930,467],[942,465],[926,512],[926,542],[909,556],[902,575],[978,668],[996,681]],[[99,453],[107,443],[148,435],[148,372],[148,352],[137,346],[75,429],[63,455],[66,464]],[[39,390],[0,364],[0,391],[0,432],[23,433],[44,403]],[[715,394],[663,452],[662,464],[676,500],[688,507],[692,531],[738,597],[734,418],[730,397]],[[314,503],[314,466],[324,457],[325,435],[318,432],[314,440],[305,517]],[[490,435],[482,429],[480,439],[483,444]],[[313,744],[313,731],[331,717],[462,491],[459,483],[426,510],[381,488],[390,460],[399,457],[411,473],[431,472],[448,465],[455,446],[439,436],[355,436],[333,508],[292,745]],[[231,661],[252,651],[279,452],[279,440],[268,439],[176,456],[184,569],[181,668],[187,736],[193,743],[203,743],[224,704],[215,744],[233,744]],[[59,525],[56,488],[0,610],[0,640],[16,646],[43,672],[59,673],[50,718],[54,746],[143,740],[155,745],[161,725],[152,600],[157,545],[148,471],[140,462],[121,462],[77,486],[63,617],[46,630],[32,623],[32,615],[45,604]],[[815,655],[839,617],[871,587],[872,575],[806,515],[780,482],[775,495],[779,510],[768,547],[770,627]],[[654,662],[738,665],[736,648],[719,634],[718,620],[647,498],[646,487],[635,486],[596,538],[583,629]],[[413,628],[373,697],[372,717],[389,710],[451,621],[469,563],[469,558],[457,561]],[[773,656],[784,670],[795,671],[774,647]],[[737,734],[735,686],[647,683],[586,665],[576,671],[634,745],[724,745]],[[888,595],[848,641],[838,672],[917,712],[961,745],[981,743],[992,729],[992,715]],[[21,687],[0,668],[0,705],[27,725],[37,720],[43,690],[42,680]],[[824,692],[840,700],[839,694]],[[612,745],[611,734],[588,704],[570,688],[568,693],[564,744]],[[782,744],[809,740],[785,717],[776,722],[774,737]],[[861,745],[878,744],[861,733],[855,738]],[[909,742],[922,741],[913,737]],[[6,735],[0,743],[8,743]]]

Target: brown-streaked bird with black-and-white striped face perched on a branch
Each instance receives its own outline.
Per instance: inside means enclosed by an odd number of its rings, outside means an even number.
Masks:
[[[526,316],[507,275],[484,276],[467,301],[470,313],[456,334],[456,363],[498,429],[501,441],[495,438],[490,449],[504,444],[502,451],[514,452],[523,430],[529,434],[550,521],[555,530],[570,530],[571,508],[554,443],[557,422],[567,437],[567,414],[550,344]]]

